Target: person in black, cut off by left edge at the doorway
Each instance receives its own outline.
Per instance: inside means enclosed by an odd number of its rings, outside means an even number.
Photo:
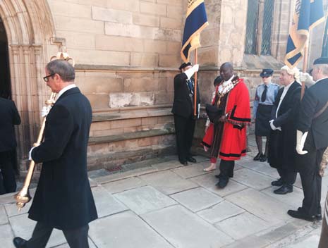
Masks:
[[[6,194],[16,191],[12,154],[17,144],[13,125],[20,124],[20,116],[15,103],[1,97],[0,116],[0,194]]]

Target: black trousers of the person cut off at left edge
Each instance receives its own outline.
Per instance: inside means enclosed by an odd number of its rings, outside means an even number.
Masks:
[[[12,151],[0,152],[0,194],[16,192],[15,171],[11,156]]]

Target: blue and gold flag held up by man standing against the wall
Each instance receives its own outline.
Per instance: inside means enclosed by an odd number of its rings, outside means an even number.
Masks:
[[[204,0],[188,0],[187,18],[181,49],[183,61],[188,62],[190,51],[200,47],[200,32],[207,25]]]

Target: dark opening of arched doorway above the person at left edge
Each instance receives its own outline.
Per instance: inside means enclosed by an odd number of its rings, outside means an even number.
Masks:
[[[11,99],[11,77],[9,73],[8,39],[4,23],[0,18],[0,97]]]

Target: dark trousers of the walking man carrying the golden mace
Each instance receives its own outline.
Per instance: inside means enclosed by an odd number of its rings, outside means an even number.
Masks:
[[[26,248],[44,248],[47,245],[49,237],[52,233],[51,228],[43,223],[37,222],[33,230],[32,237],[28,240]],[[89,242],[87,241],[87,232],[89,231],[89,225],[83,225],[80,228],[63,230],[69,247],[71,248],[89,248]]]

